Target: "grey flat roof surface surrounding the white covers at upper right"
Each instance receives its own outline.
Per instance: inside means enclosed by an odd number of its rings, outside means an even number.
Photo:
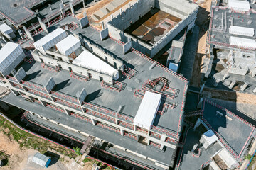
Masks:
[[[226,13],[226,19],[225,19]],[[250,15],[246,13],[235,13],[231,12],[228,8],[222,6],[219,8],[218,6],[213,7],[211,10],[211,18],[210,18],[210,28],[208,33],[208,43],[216,46],[223,47],[231,47],[238,48],[236,46],[230,46],[230,37],[238,37],[238,38],[249,38],[255,39],[251,37],[247,37],[244,35],[234,35],[229,33],[229,28],[231,25],[231,21],[233,21],[233,26],[247,27],[247,28],[256,28],[256,13],[250,12]],[[250,21],[252,21],[250,23]],[[218,28],[221,26],[223,22],[223,30],[219,30]],[[225,24],[226,23],[226,24]],[[250,47],[244,49],[250,50]]]

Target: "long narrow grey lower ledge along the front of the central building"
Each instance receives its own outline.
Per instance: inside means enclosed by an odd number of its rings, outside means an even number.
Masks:
[[[171,164],[170,162],[174,154],[174,149],[171,149],[170,147],[166,148],[164,151],[151,146],[143,145],[136,140],[132,140],[127,137],[125,137],[124,140],[124,137],[122,137],[120,134],[111,132],[110,130],[106,130],[105,128],[101,128],[97,125],[92,125],[92,123],[87,123],[85,120],[80,120],[74,116],[69,116],[51,108],[43,107],[38,103],[25,101],[21,96],[14,96],[12,93],[4,96],[4,98],[1,98],[1,100],[13,106],[23,108],[26,111],[31,111],[32,113],[43,115],[45,118],[55,120],[56,122],[63,125],[68,125],[71,128],[75,128],[94,137],[106,140],[107,142],[110,142],[114,145],[118,145],[133,152],[137,152],[138,154],[142,154],[146,157],[159,160],[165,164]],[[33,118],[36,118],[36,116]]]

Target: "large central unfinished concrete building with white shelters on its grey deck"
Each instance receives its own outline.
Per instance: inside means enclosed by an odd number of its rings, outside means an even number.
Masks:
[[[122,44],[102,41],[91,27],[41,35],[31,55],[13,42],[1,48],[1,86],[12,92],[2,101],[36,125],[89,139],[100,152],[142,169],[173,166],[186,79],[137,50],[124,54]],[[97,147],[103,143],[112,147]]]

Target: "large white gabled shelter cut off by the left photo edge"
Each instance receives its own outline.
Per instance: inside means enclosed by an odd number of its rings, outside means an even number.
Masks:
[[[8,42],[0,50],[0,72],[8,67],[23,52],[20,45]]]

